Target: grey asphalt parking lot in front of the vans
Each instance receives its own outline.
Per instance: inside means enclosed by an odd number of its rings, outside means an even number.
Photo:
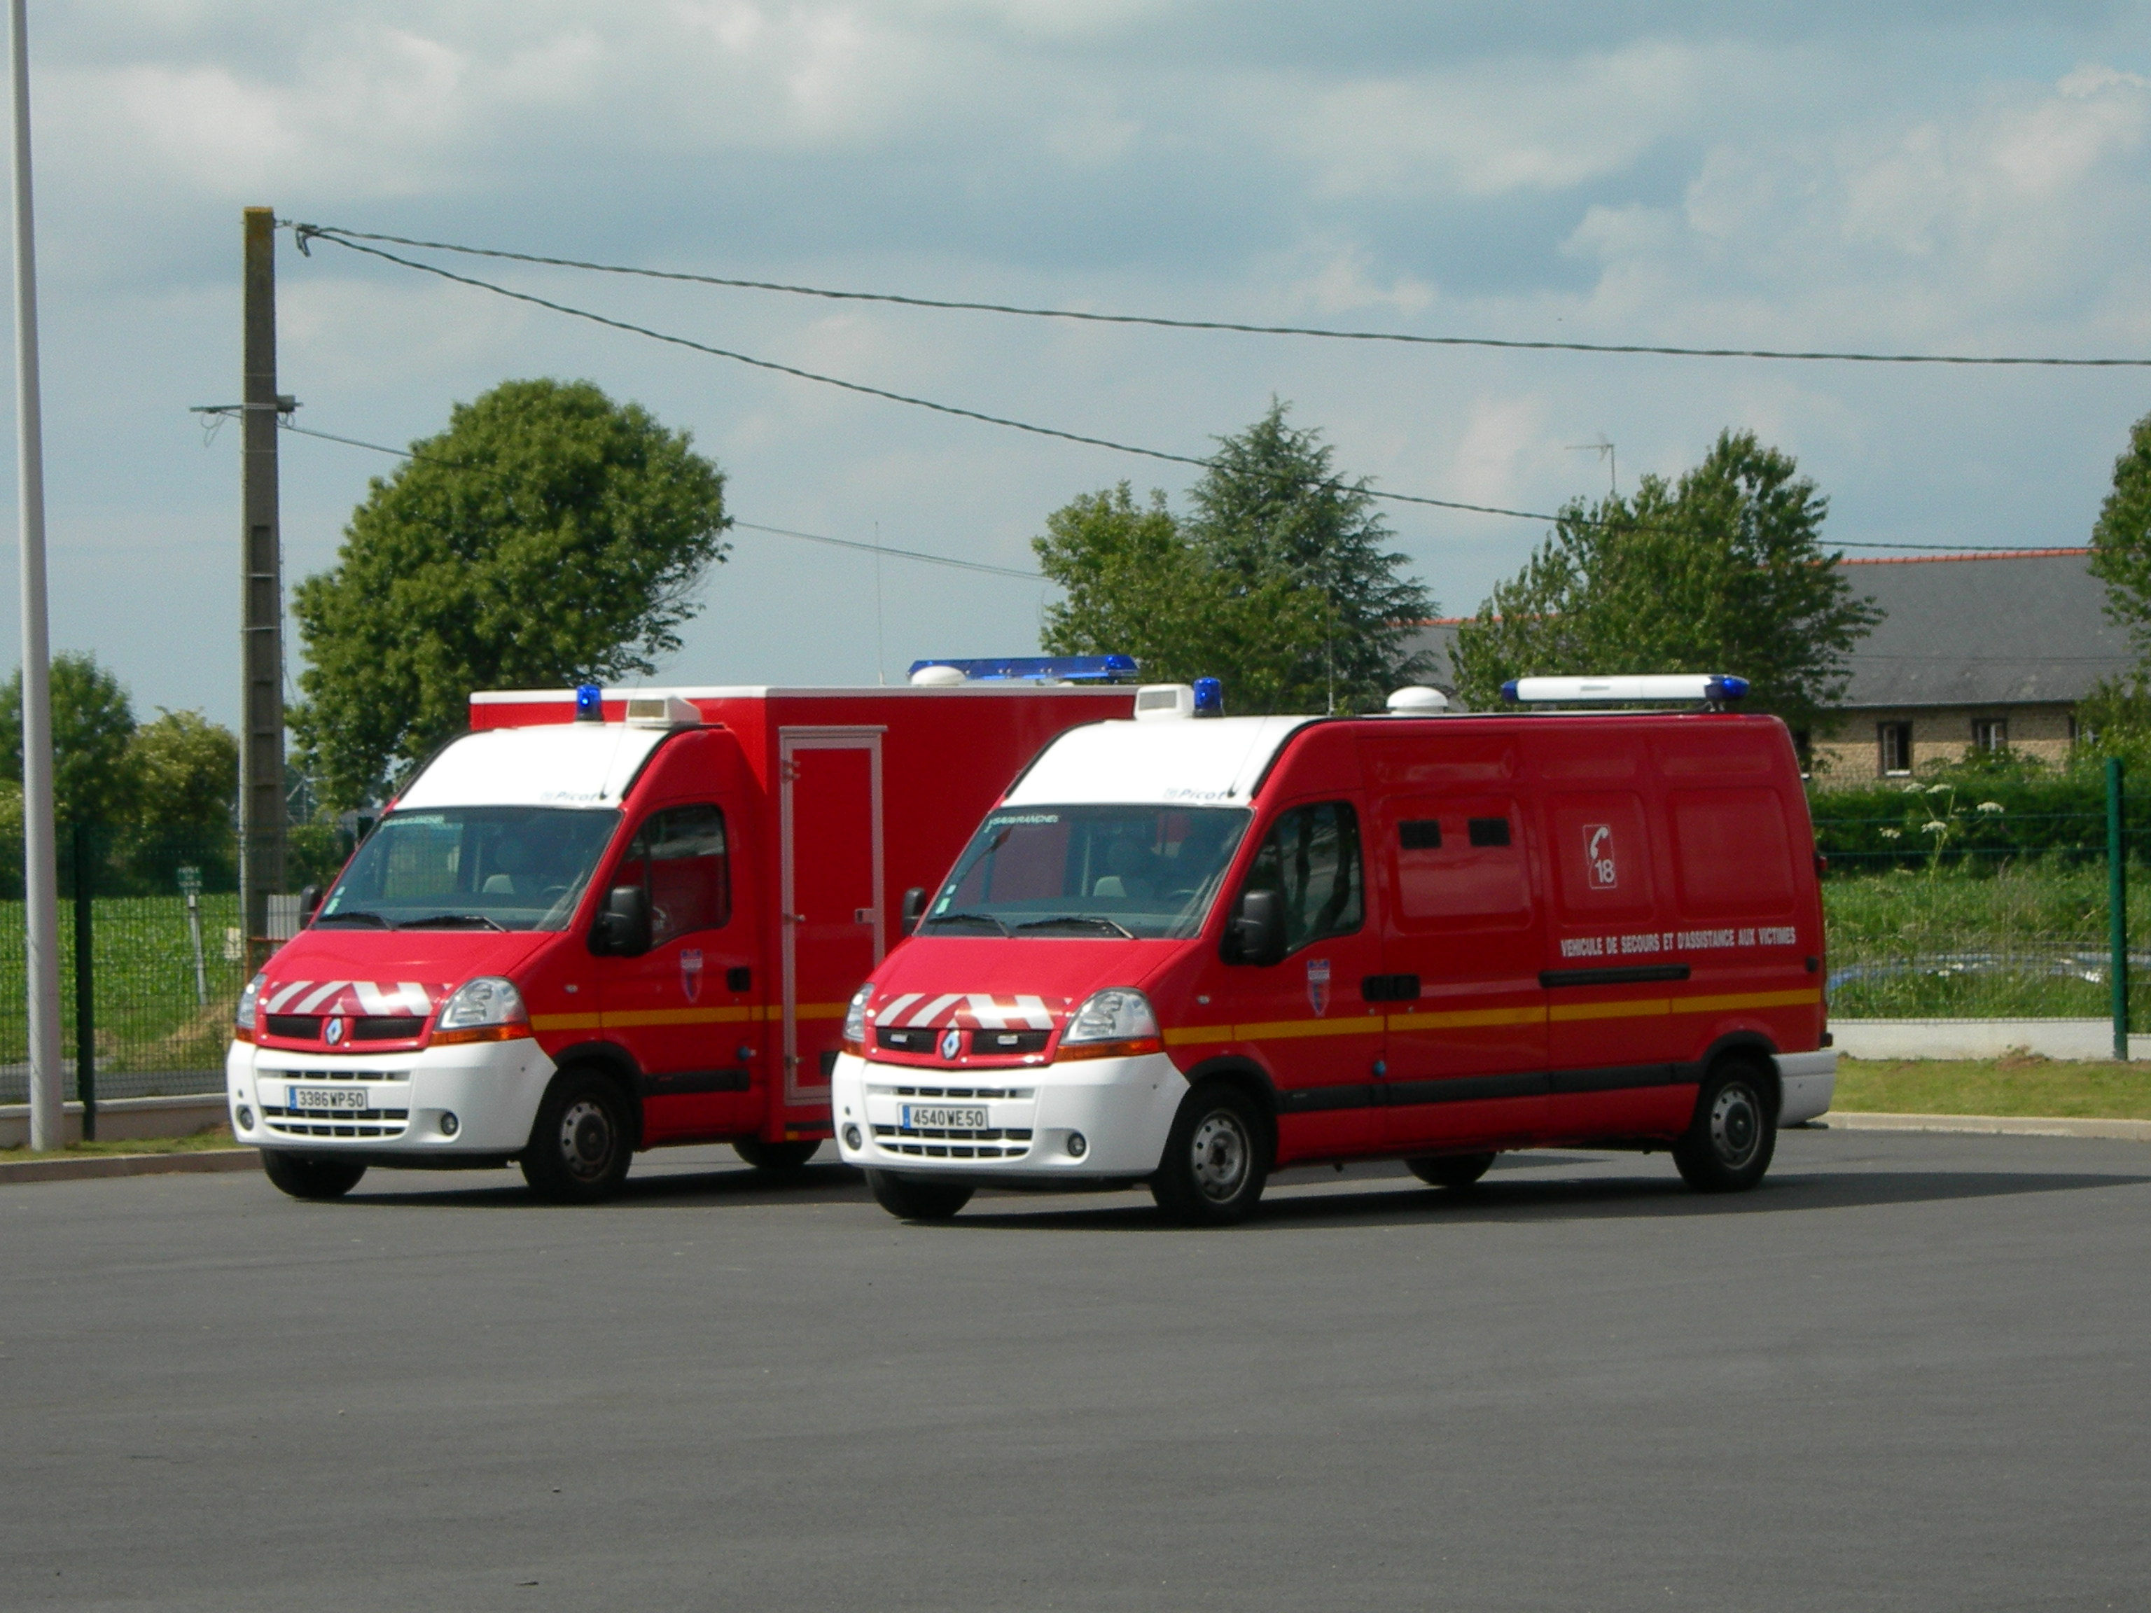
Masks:
[[[2104,1609],[2151,1148],[1798,1131],[899,1226],[839,1168],[0,1194],[0,1602]]]

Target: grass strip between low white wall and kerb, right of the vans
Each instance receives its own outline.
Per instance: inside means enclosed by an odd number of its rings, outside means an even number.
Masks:
[[[2151,1120],[2151,1065],[2041,1058],[1839,1058],[1837,1110]]]

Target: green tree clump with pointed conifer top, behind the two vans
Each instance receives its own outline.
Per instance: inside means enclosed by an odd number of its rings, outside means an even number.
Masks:
[[[1342,484],[1282,404],[1220,439],[1190,501],[1181,520],[1164,493],[1138,505],[1123,482],[1045,518],[1032,548],[1065,594],[1045,611],[1048,654],[1131,654],[1162,682],[1215,675],[1235,712],[1379,705],[1422,673],[1402,643],[1433,611],[1426,589],[1383,553],[1366,482]]]

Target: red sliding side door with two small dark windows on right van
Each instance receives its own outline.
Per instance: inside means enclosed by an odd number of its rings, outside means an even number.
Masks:
[[[1390,1009],[1390,1146],[1529,1140],[1547,1120],[1547,989],[1519,798],[1390,796],[1377,862],[1381,970],[1402,998]]]

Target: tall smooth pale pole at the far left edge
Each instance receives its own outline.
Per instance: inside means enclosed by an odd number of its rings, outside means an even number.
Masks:
[[[15,499],[22,510],[22,886],[30,1017],[30,1146],[67,1142],[60,1088],[60,873],[52,832],[52,641],[45,632],[45,415],[37,383],[37,234],[30,206],[30,39],[9,6],[15,82]]]

